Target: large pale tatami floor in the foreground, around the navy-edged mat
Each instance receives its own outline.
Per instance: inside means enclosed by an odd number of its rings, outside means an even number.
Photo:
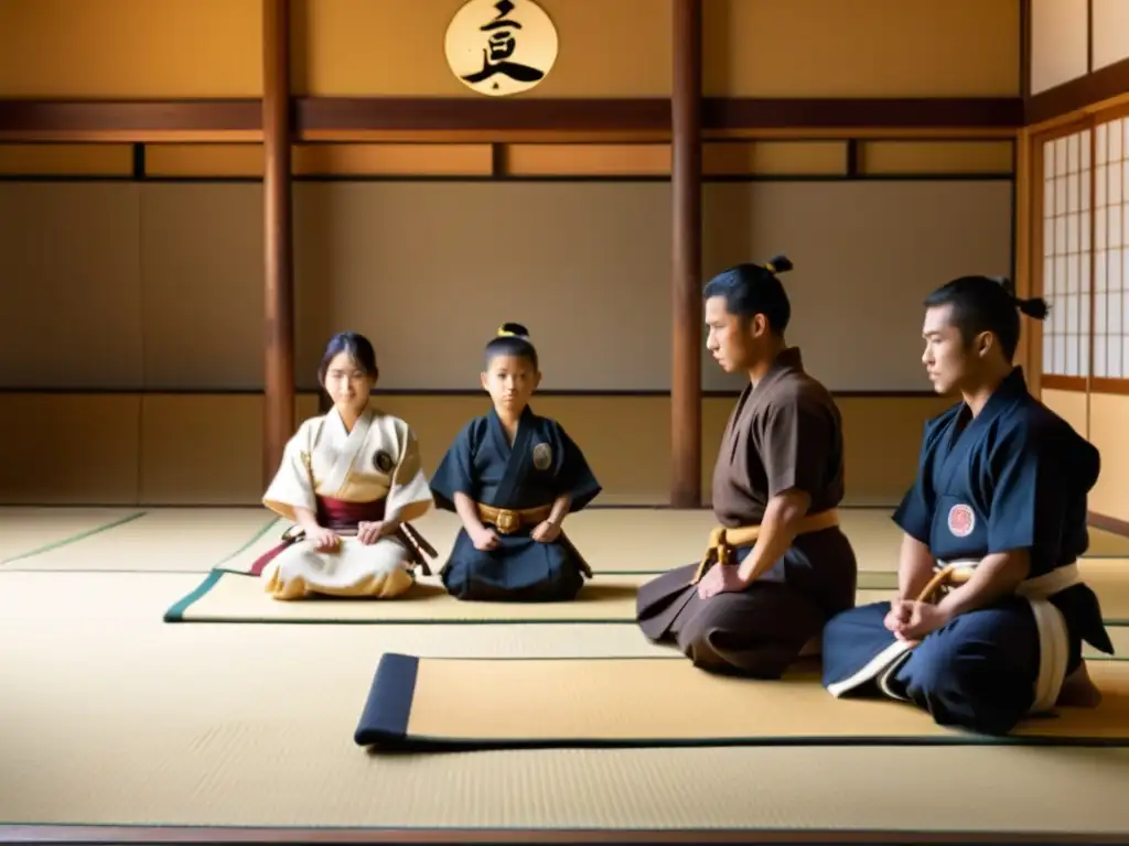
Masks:
[[[1117,749],[374,757],[352,731],[408,627],[163,625],[152,608],[196,581],[0,573],[0,671],[18,681],[0,697],[0,821],[1129,834]],[[448,627],[447,651],[522,653],[534,629]]]

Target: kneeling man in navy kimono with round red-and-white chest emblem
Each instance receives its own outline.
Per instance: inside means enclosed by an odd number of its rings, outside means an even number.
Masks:
[[[1076,563],[1100,457],[1013,364],[1016,309],[1041,319],[1041,300],[1017,300],[1007,280],[965,276],[926,307],[929,378],[963,402],[926,426],[917,481],[894,514],[904,532],[898,598],[828,624],[824,685],[1007,734],[1056,703],[1100,698],[1082,642],[1113,646]]]

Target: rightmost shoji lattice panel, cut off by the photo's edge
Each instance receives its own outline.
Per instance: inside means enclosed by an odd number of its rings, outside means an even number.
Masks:
[[[1129,379],[1129,118],[1094,136],[1094,376]]]

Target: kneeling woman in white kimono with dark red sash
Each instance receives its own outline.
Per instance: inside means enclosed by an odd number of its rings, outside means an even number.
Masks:
[[[391,599],[414,584],[436,552],[409,526],[432,505],[409,425],[369,406],[373,345],[330,340],[318,381],[333,408],[305,421],[286,446],[263,504],[296,526],[264,570],[275,599],[310,594]]]

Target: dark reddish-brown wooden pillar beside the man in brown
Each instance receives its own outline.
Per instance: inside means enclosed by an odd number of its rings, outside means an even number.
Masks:
[[[672,0],[671,505],[701,506],[702,1]]]

